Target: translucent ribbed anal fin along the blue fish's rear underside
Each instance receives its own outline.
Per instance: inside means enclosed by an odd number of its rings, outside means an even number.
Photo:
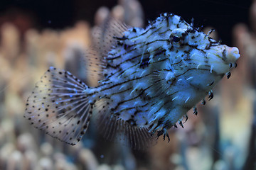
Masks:
[[[107,140],[121,142],[134,149],[146,149],[156,144],[156,137],[148,128],[130,125],[119,118],[107,107],[107,101],[97,101],[95,112],[97,128]]]

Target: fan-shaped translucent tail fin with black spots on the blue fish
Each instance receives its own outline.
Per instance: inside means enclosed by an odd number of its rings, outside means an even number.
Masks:
[[[87,89],[70,72],[50,67],[28,97],[24,118],[48,135],[75,145],[85,134],[92,115]]]

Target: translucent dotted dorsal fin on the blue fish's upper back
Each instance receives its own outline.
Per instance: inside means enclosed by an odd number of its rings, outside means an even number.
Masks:
[[[128,27],[124,23],[112,17],[107,17],[101,26],[94,28],[92,45],[85,52],[84,57],[86,74],[90,81],[95,80],[97,82],[103,78],[102,69],[106,66],[105,57],[116,43],[114,37],[122,37],[126,30]],[[97,84],[92,84],[92,86],[97,86]]]

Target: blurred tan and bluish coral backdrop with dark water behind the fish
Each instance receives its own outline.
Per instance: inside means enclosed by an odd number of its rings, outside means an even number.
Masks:
[[[171,141],[145,151],[103,139],[90,125],[70,146],[23,118],[26,99],[50,66],[93,86],[80,62],[95,29],[108,16],[144,27],[175,13],[222,43],[238,47],[238,67],[214,88],[213,100],[188,113]],[[104,31],[104,27],[101,27]],[[32,1],[0,2],[0,169],[256,169],[256,1]]]

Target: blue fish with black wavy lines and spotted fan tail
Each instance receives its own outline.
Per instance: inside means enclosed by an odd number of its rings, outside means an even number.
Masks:
[[[24,117],[31,124],[75,145],[93,117],[107,139],[143,149],[161,135],[169,138],[176,123],[183,127],[186,113],[193,108],[196,114],[207,94],[213,98],[213,86],[230,77],[240,57],[237,47],[220,45],[171,13],[146,29],[113,28],[100,42],[101,62],[87,56],[90,65],[103,68],[99,85],[50,67],[28,97]]]

